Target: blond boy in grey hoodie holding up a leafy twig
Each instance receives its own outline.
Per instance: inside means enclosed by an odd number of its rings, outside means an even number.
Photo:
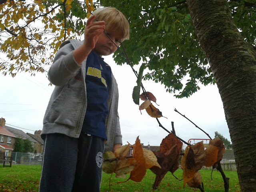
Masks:
[[[128,38],[124,15],[105,7],[88,19],[83,42],[69,40],[60,46],[48,72],[55,88],[41,133],[39,192],[100,191],[102,153],[122,146],[118,88],[101,57]]]

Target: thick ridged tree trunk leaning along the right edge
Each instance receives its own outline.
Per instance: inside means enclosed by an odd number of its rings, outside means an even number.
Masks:
[[[240,35],[226,0],[187,4],[223,102],[241,191],[255,191],[256,52]]]

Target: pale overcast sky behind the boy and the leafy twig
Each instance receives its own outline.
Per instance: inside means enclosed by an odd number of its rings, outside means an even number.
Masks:
[[[133,102],[132,91],[136,86],[136,76],[128,65],[118,66],[112,56],[104,57],[116,78],[119,89],[118,113],[123,136],[123,144],[134,144],[139,136],[144,145],[160,146],[162,139],[168,135],[155,118],[150,117],[146,110],[139,110]],[[139,70],[136,66],[135,70]],[[172,130],[174,122],[176,135],[188,142],[189,139],[208,139],[208,136],[196,128],[186,118],[174,111],[176,108],[198,127],[202,128],[212,138],[218,131],[230,140],[222,101],[216,85],[200,86],[200,90],[189,98],[178,99],[174,94],[166,92],[164,85],[153,81],[142,81],[146,91],[156,97],[158,108],[164,117],[158,118],[162,126]],[[45,74],[18,73],[12,78],[10,75],[0,74],[0,117],[5,118],[6,126],[20,129],[25,133],[34,134],[35,130],[42,130],[44,112],[52,94],[54,86],[49,86]],[[140,104],[143,101],[140,101]],[[231,141],[231,140],[230,140]],[[195,142],[198,142],[195,140]],[[191,141],[194,143],[194,140]],[[206,143],[206,141],[204,141]]]

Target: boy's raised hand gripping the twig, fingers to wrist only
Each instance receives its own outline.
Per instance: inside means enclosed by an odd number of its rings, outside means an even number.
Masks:
[[[94,49],[95,44],[105,28],[104,21],[96,21],[95,15],[91,16],[86,22],[86,28],[84,29],[84,45],[86,48]]]

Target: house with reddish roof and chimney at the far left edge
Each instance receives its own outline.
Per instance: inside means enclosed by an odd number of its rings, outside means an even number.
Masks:
[[[0,119],[0,151],[5,153],[5,156],[11,156],[14,150],[16,136],[4,128],[5,120]]]

